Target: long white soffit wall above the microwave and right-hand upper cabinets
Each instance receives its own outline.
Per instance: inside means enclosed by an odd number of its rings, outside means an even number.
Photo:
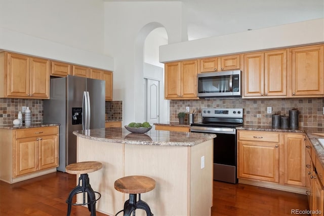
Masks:
[[[159,61],[168,62],[321,42],[324,42],[324,19],[315,19],[161,46]]]

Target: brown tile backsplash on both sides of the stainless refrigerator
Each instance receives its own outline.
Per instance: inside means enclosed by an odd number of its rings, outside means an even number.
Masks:
[[[43,122],[42,99],[0,98],[0,125],[12,124],[18,118],[22,106],[29,106],[32,123]],[[106,114],[108,120],[122,120],[123,101],[106,101]]]

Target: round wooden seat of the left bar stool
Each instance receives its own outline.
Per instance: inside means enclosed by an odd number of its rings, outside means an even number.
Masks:
[[[86,174],[102,168],[102,163],[97,161],[83,161],[69,164],[65,171],[70,174]]]

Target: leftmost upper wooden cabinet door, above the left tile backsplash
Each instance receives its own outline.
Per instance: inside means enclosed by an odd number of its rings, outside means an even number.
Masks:
[[[29,96],[29,57],[7,53],[7,96]]]

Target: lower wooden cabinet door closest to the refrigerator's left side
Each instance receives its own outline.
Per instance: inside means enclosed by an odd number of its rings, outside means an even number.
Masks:
[[[39,137],[39,170],[58,166],[58,148],[58,135]]]

